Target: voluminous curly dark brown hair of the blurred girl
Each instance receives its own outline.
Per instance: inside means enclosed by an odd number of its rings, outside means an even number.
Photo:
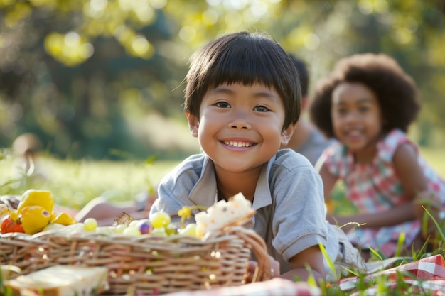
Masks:
[[[373,53],[351,55],[340,60],[331,75],[317,84],[309,109],[313,123],[328,137],[335,136],[331,119],[332,93],[342,82],[363,83],[374,92],[385,132],[393,128],[406,132],[420,110],[414,80],[392,57]]]

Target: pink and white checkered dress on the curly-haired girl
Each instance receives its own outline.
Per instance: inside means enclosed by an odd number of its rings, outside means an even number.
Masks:
[[[353,154],[340,143],[323,152],[326,166],[333,175],[345,184],[345,194],[360,213],[384,212],[397,205],[409,202],[404,194],[402,183],[393,167],[392,158],[397,147],[408,143],[417,146],[400,130],[392,130],[377,143],[377,155],[372,163],[354,163]],[[417,150],[418,151],[418,150]],[[419,165],[427,177],[429,192],[434,192],[445,204],[445,182],[417,153]],[[442,213],[443,214],[443,211]],[[373,248],[386,256],[393,256],[397,250],[397,240],[404,233],[404,246],[411,246],[421,229],[418,220],[407,221],[396,226],[381,228],[356,228],[348,234],[348,239],[363,249]]]

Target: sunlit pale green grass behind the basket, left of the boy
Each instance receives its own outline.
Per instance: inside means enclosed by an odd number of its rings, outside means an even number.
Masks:
[[[41,158],[45,178],[25,178],[13,182],[11,159],[0,162],[0,195],[21,195],[29,188],[53,192],[55,202],[80,209],[91,199],[104,196],[112,202],[134,199],[144,190],[154,190],[161,178],[178,161],[95,161]]]

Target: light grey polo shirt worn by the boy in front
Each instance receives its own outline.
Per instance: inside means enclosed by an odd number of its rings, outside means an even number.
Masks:
[[[210,207],[216,202],[216,193],[213,161],[204,154],[192,155],[163,177],[151,213],[167,212],[178,221],[181,207]],[[279,150],[264,164],[252,207],[257,214],[250,225],[267,243],[282,273],[291,269],[288,261],[297,253],[318,243],[326,246],[328,224],[321,177],[309,160],[294,150]],[[338,241],[333,243],[337,251]],[[336,254],[332,256],[336,258]]]

